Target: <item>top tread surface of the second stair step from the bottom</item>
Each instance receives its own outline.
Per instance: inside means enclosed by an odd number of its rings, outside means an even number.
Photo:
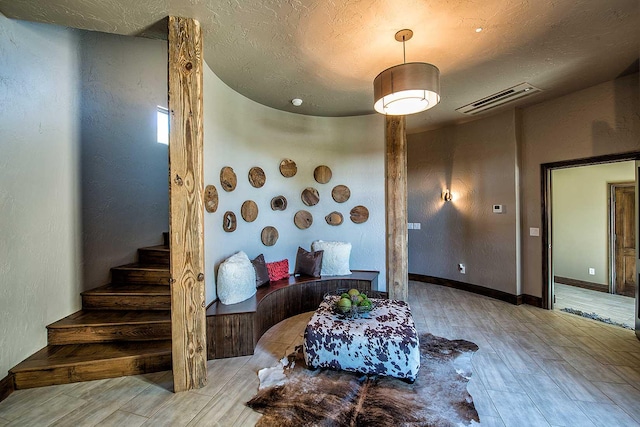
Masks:
[[[80,310],[47,326],[48,329],[78,326],[115,326],[171,323],[170,311],[151,310]]]

